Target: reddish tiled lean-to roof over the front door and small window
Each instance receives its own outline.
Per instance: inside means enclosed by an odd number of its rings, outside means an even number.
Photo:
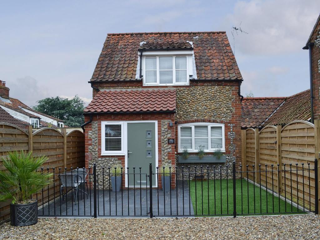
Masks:
[[[176,91],[109,90],[100,91],[84,109],[85,113],[159,112],[176,110]]]

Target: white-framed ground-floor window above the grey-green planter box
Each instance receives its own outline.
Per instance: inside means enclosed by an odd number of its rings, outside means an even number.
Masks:
[[[178,125],[178,152],[187,148],[189,152],[198,152],[200,146],[205,152],[216,149],[225,151],[224,124],[191,123]]]

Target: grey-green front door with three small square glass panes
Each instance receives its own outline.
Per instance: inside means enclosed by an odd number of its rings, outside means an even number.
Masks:
[[[141,187],[149,186],[149,163],[152,163],[152,171],[156,170],[156,128],[155,123],[128,123],[128,167],[129,167],[129,187],[140,187],[141,167]],[[133,177],[133,167],[135,175]],[[152,185],[156,185],[156,176],[152,175]]]

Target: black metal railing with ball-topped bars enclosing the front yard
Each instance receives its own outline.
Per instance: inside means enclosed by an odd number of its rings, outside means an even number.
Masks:
[[[311,165],[310,165],[311,164]],[[52,171],[39,216],[161,217],[318,214],[317,160],[307,164],[180,166],[161,174],[93,164]],[[305,166],[307,165],[307,166]],[[125,171],[124,171],[125,170]],[[41,172],[45,171],[41,169]],[[116,172],[116,174],[115,174]],[[154,179],[153,179],[154,178]],[[155,180],[155,182],[154,182]],[[169,186],[168,186],[169,185]]]

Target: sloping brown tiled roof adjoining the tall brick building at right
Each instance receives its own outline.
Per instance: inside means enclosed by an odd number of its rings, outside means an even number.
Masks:
[[[310,89],[287,97],[263,125],[287,124],[293,120],[308,120],[310,113]]]

